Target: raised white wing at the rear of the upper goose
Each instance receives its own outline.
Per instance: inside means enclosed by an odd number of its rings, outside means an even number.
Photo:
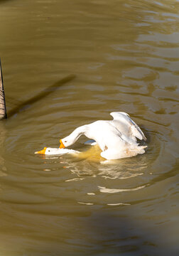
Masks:
[[[110,114],[114,121],[117,121],[118,129],[120,129],[120,127],[125,127],[125,129],[127,128],[129,130],[129,134],[131,134],[132,137],[146,140],[145,135],[139,126],[129,117],[129,114],[126,114],[125,112],[112,112]]]

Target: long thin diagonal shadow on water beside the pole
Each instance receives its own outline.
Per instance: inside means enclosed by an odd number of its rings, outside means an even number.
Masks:
[[[53,85],[50,85],[49,87],[45,88],[42,92],[38,93],[38,95],[31,97],[29,100],[26,100],[26,102],[19,102],[18,106],[14,107],[12,110],[10,110],[7,113],[7,117],[12,117],[13,114],[18,113],[19,111],[22,111],[23,109],[26,109],[28,105],[31,105],[35,102],[38,102],[39,100],[43,99],[44,97],[47,97],[50,95],[50,93],[55,92],[58,90],[58,88],[61,85],[64,85],[67,82],[70,82],[75,78],[75,75],[68,75],[66,78],[63,78],[59,80],[58,82],[55,82]],[[13,99],[12,99],[13,100]]]

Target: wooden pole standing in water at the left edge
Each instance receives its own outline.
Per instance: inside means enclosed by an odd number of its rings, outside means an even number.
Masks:
[[[4,85],[3,85],[3,77],[2,77],[2,69],[1,69],[1,58],[0,58],[0,120],[6,119],[6,101],[5,101],[5,93],[4,93]]]

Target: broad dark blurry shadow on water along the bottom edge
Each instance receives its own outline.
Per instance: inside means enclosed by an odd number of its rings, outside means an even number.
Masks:
[[[42,235],[46,240],[45,244],[42,245],[39,240],[38,245],[35,242],[31,248],[27,245],[26,252],[31,251],[34,256],[178,255],[175,247],[168,247],[167,243],[165,245],[162,233],[153,233],[151,231],[150,221],[141,225],[141,219],[138,219],[131,211],[124,210],[125,206],[120,207],[122,210],[114,206],[109,210],[105,208],[103,212],[102,209],[96,210],[93,214],[90,214],[90,210],[87,210],[85,215],[83,215],[83,209],[81,208],[80,212],[80,208],[78,208],[78,214],[80,213],[82,216],[80,218],[78,215],[78,218],[75,218],[77,223],[77,226],[75,225],[77,230],[75,236],[71,235],[70,230],[68,230],[69,236],[65,238],[60,230],[57,229],[55,231],[56,239],[53,241],[53,247],[51,245],[50,233],[46,233]],[[74,212],[72,215],[74,215]],[[72,218],[72,215],[70,218]],[[55,219],[55,215],[51,215],[51,218]],[[163,242],[158,245],[158,240],[160,239],[163,239]],[[23,249],[21,248],[20,250]],[[37,250],[40,254],[38,254]]]

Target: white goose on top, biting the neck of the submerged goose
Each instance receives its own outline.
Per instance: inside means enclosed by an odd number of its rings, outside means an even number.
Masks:
[[[136,138],[146,140],[139,126],[124,112],[110,113],[113,120],[99,120],[77,127],[69,136],[60,139],[60,149],[74,144],[84,134],[94,139],[105,159],[121,159],[145,153],[147,146],[139,146]]]

